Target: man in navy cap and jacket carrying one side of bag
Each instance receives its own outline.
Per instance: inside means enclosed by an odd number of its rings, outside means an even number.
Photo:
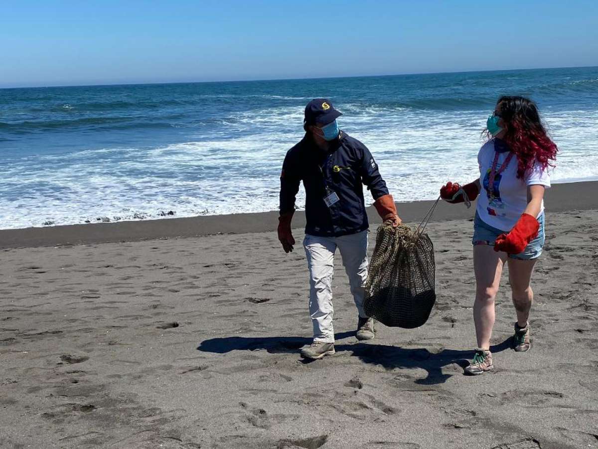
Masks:
[[[385,222],[401,223],[378,166],[364,144],[339,131],[342,114],[324,98],[307,104],[301,141],[286,153],[280,174],[278,238],[286,253],[293,250],[291,219],[300,181],[306,191],[306,236],[303,242],[310,274],[309,313],[313,343],[301,356],[322,359],[334,354],[332,273],[334,253],[340,250],[350,290],[359,313],[356,336],[374,338],[374,320],[364,312],[367,279],[368,218],[362,183],[375,200]]]

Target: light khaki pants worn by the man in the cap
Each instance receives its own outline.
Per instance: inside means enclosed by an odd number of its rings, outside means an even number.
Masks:
[[[318,237],[307,234],[303,241],[309,266],[309,313],[312,316],[314,341],[334,342],[332,327],[332,275],[337,248],[349,277],[353,301],[359,316],[364,312],[364,286],[368,277],[368,231],[340,237]]]

